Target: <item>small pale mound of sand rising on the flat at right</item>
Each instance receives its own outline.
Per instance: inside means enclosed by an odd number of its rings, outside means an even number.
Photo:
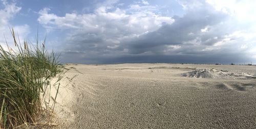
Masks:
[[[251,78],[253,75],[248,73],[233,73],[228,72],[227,70],[218,70],[218,69],[197,69],[194,71],[183,73],[182,76],[189,78],[207,78],[207,79],[221,79],[221,78]]]

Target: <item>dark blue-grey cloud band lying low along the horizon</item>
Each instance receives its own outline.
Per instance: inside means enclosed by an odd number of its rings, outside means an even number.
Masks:
[[[232,57],[225,54],[212,55],[126,55],[115,57],[83,57],[84,54],[65,53],[62,59],[66,63],[84,63],[84,64],[119,64],[119,63],[197,63],[197,64],[230,64],[241,63],[247,64],[251,60],[249,55],[238,54]],[[77,60],[74,60],[76,58]],[[237,62],[237,58],[241,59]]]

